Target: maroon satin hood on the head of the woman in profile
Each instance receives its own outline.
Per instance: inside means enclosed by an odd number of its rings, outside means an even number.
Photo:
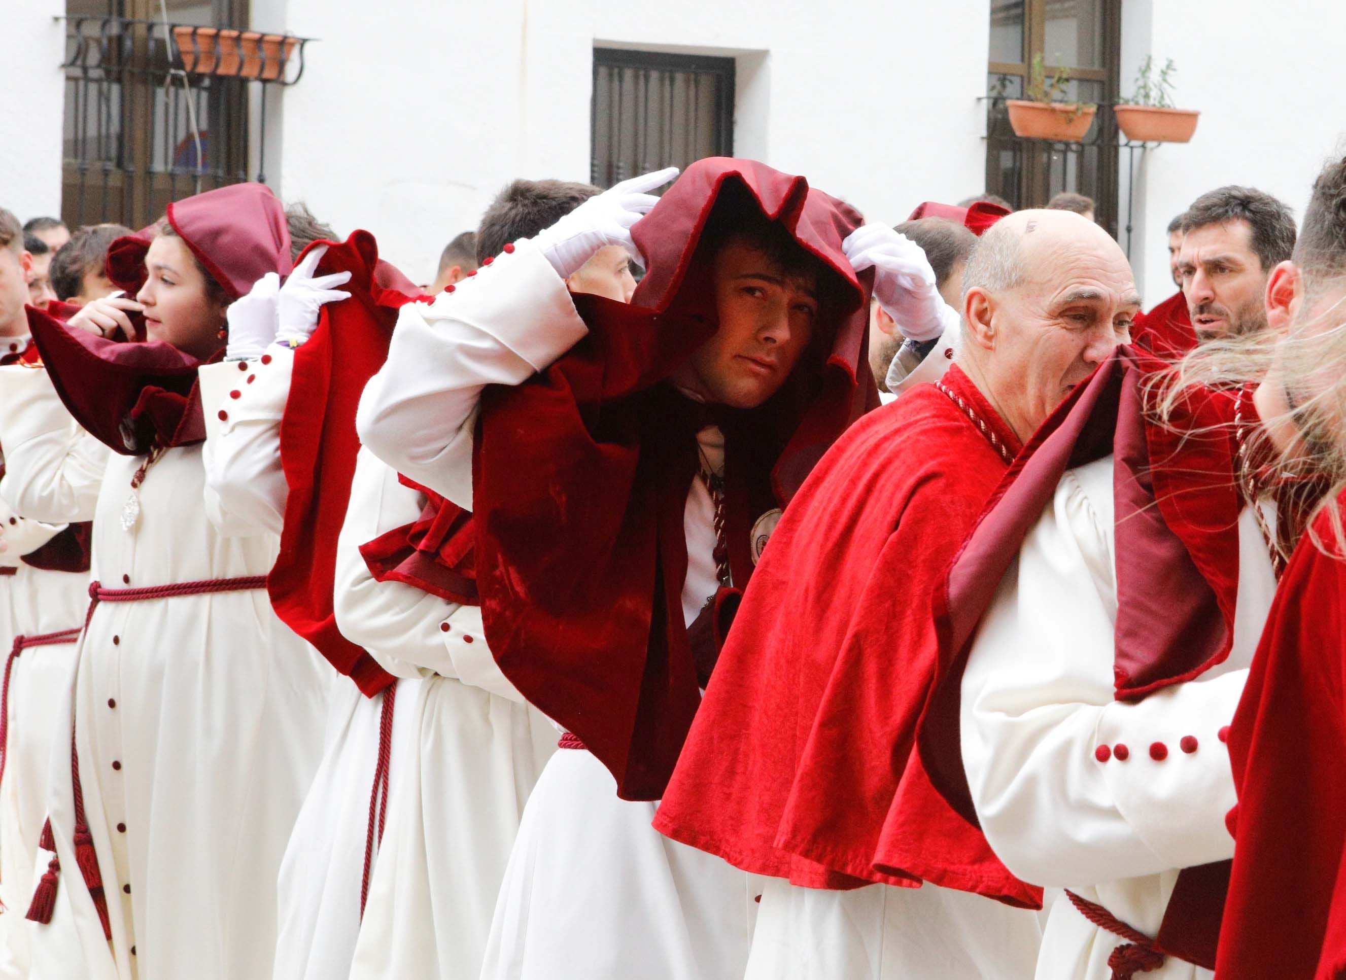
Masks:
[[[288,276],[289,226],[271,187],[238,183],[168,205],[166,218],[230,300],[268,272]],[[108,248],[108,279],[128,296],[145,283],[145,252],[159,222],[117,238]]]

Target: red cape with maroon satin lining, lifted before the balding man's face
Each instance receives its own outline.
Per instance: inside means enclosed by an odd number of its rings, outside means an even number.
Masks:
[[[1249,392],[1202,390],[1158,425],[1144,412],[1144,380],[1164,368],[1124,346],[1079,385],[1015,460],[937,594],[940,677],[918,740],[935,788],[969,823],[976,813],[962,769],[962,670],[1001,578],[1067,468],[1114,455],[1116,697],[1141,700],[1229,656],[1242,506],[1233,420],[1240,400],[1248,419],[1256,413]],[[1159,949],[1214,965],[1228,874],[1228,862],[1183,870]]]

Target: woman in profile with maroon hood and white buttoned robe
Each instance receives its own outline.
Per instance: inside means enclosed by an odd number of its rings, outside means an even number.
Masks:
[[[156,234],[118,240],[109,267],[143,283],[137,300],[96,300],[70,326],[31,314],[44,370],[3,393],[11,498],[94,521],[92,602],[55,720],[71,765],[48,790],[52,856],[28,906],[34,972],[268,976],[326,668],[267,602],[275,536],[240,528],[205,487],[197,370],[258,269],[289,271],[284,213],[257,184],[210,191],[170,205]],[[109,311],[149,339],[90,332]]]

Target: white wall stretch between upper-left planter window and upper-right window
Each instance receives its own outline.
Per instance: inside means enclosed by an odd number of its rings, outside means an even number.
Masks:
[[[588,179],[592,48],[629,46],[736,57],[735,152],[896,222],[984,184],[988,16],[988,0],[288,0],[285,26],[322,40],[284,94],[280,191],[369,228],[424,281],[506,180]]]

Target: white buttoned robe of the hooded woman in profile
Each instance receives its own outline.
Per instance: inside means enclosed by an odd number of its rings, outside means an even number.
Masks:
[[[275,536],[219,510],[199,446],[148,470],[127,532],[122,505],[144,458],[108,456],[90,479],[89,438],[69,436],[44,372],[0,398],[8,498],[48,521],[93,518],[93,578],[105,587],[269,571]],[[271,973],[276,870],[318,765],[326,682],[265,590],[96,608],[58,724],[75,724],[112,944],[75,864],[70,757],[57,746],[48,805],[62,871],[51,923],[31,930],[36,980]]]

